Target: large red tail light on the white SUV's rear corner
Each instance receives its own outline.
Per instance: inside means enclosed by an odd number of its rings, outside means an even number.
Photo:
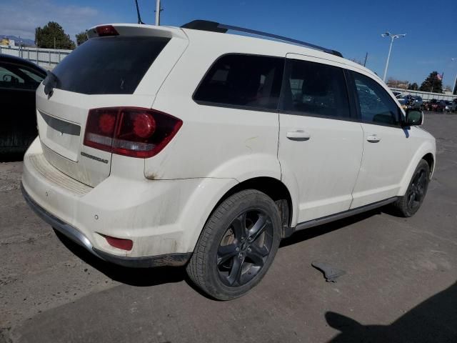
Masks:
[[[113,154],[148,158],[159,154],[182,124],[181,119],[154,109],[91,109],[84,145]]]

